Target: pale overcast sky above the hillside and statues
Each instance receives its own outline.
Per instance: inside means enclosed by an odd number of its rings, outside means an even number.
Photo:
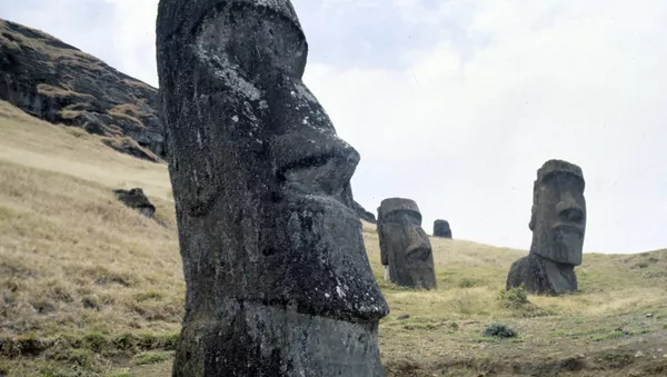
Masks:
[[[527,249],[536,170],[586,177],[585,250],[667,247],[664,0],[295,0],[306,82],[361,153],[356,199],[415,199],[424,228]],[[0,0],[157,86],[157,0]]]

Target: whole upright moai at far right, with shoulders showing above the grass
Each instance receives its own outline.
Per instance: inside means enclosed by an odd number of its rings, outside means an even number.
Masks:
[[[532,190],[530,254],[511,265],[507,289],[524,285],[536,295],[577,290],[586,231],[584,175],[576,165],[549,160],[537,171]]]

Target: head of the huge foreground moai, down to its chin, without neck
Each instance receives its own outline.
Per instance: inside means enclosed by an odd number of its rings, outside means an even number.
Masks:
[[[161,0],[157,44],[191,305],[218,291],[384,317],[350,206],[359,155],[301,81],[308,47],[289,0]]]

